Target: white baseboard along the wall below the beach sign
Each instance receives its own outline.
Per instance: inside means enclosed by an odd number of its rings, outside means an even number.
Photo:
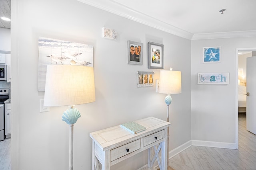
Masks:
[[[236,149],[236,143],[191,140],[192,146]]]

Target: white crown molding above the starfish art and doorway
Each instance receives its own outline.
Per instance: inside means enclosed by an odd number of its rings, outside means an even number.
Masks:
[[[237,38],[237,37],[256,37],[256,30],[194,34],[191,40]]]

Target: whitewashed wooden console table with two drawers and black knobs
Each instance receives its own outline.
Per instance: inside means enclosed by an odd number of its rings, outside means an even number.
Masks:
[[[167,128],[169,122],[148,117],[135,121],[146,131],[132,134],[114,126],[90,133],[92,138],[92,170],[110,170],[110,166],[148,149],[148,167],[157,160],[160,170],[167,170]],[[161,156],[160,156],[161,153]]]

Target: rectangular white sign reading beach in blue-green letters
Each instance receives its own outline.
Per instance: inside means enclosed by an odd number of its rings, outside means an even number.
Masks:
[[[229,84],[229,73],[198,73],[198,84]]]

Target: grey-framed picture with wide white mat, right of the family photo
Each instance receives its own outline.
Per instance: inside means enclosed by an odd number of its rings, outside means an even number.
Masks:
[[[164,69],[164,45],[148,42],[148,68]]]

